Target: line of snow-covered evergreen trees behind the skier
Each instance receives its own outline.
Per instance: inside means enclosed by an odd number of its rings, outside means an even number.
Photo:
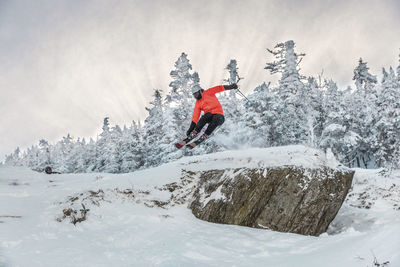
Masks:
[[[176,150],[190,125],[195,100],[191,87],[200,83],[187,54],[170,72],[170,90],[155,89],[144,123],[121,128],[103,121],[94,140],[68,134],[51,144],[40,140],[25,151],[17,148],[5,164],[59,172],[123,173],[160,165],[180,157],[245,147],[304,144],[331,150],[349,167],[400,167],[400,64],[370,73],[361,58],[354,69],[355,88],[339,89],[332,79],[305,77],[299,65],[305,56],[290,40],[267,49],[273,60],[265,69],[279,82],[262,83],[247,98],[221,93],[225,123],[193,151]],[[226,67],[224,83],[240,80],[236,60]],[[206,88],[205,88],[206,89]]]

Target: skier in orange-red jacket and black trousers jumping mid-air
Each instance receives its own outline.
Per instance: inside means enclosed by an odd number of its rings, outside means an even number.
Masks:
[[[208,127],[203,135],[200,136],[196,141],[188,144],[187,146],[192,149],[198,144],[202,143],[207,137],[217,128],[222,125],[225,121],[224,112],[222,111],[221,103],[219,103],[218,98],[215,96],[216,93],[223,92],[225,90],[237,89],[237,84],[233,83],[231,85],[219,85],[207,90],[203,90],[199,85],[192,87],[192,93],[196,99],[196,104],[194,106],[192,123],[190,124],[189,130],[186,132],[187,138],[179,143],[176,143],[177,148],[181,148],[191,140],[193,140],[201,129],[208,123]],[[200,113],[203,111],[203,116]]]

